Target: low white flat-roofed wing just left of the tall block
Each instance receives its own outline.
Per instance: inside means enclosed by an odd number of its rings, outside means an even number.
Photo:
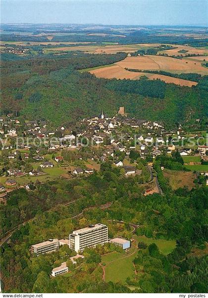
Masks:
[[[30,247],[31,253],[47,253],[51,251],[55,251],[59,249],[59,242],[58,239],[51,239],[45,242],[41,242],[38,244],[34,244]]]

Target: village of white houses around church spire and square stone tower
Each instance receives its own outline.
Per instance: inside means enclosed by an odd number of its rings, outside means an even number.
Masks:
[[[98,116],[80,120],[72,128],[64,125],[53,128],[42,120],[22,123],[7,114],[0,117],[0,200],[5,203],[7,192],[17,185],[16,178],[38,178],[46,170],[50,174],[50,169],[56,165],[66,167],[72,159],[77,160],[77,166],[68,171],[71,177],[92,174],[96,167],[82,167],[81,161],[86,156],[94,164],[110,160],[126,176],[140,174],[134,166],[122,161],[132,151],[151,161],[178,149],[181,156],[196,155],[208,161],[208,144],[196,145],[201,138],[197,133],[189,136],[187,143],[186,135],[181,125],[173,131],[158,121],[130,118],[124,107],[111,118],[102,111]],[[195,146],[189,145],[191,141]],[[21,187],[30,190],[29,184]]]

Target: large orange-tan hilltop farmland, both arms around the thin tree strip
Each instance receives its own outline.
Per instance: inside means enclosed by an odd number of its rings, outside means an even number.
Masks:
[[[138,70],[139,69],[165,70],[173,73],[203,72],[204,74],[208,74],[208,71],[206,70],[205,67],[201,65],[201,62],[194,62],[194,61],[189,61],[188,63],[186,62],[187,62],[186,60],[175,59],[175,58],[164,57],[164,56],[157,56],[157,55],[139,56],[139,57],[137,56],[137,57],[127,57],[122,61],[109,65],[108,67],[106,67],[106,65],[104,67],[99,66],[98,68],[88,69],[88,71],[91,74],[94,74],[98,78],[105,78],[105,79],[116,78],[116,79],[138,80],[141,76],[145,75],[150,80],[160,79],[161,81],[164,81],[166,83],[174,83],[180,86],[188,86],[188,87],[196,86],[198,84],[197,82],[192,82],[189,80],[183,80],[183,79],[173,78],[170,76],[154,74],[154,73],[133,72],[125,69],[125,68],[131,68],[131,69],[138,69]],[[194,69],[194,67],[201,70],[196,70]]]

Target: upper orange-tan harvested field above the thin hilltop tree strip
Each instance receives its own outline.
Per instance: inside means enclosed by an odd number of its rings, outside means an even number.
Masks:
[[[116,63],[122,68],[141,70],[164,70],[172,73],[201,73],[208,74],[208,70],[201,65],[201,61],[176,59],[159,55],[127,57]]]

